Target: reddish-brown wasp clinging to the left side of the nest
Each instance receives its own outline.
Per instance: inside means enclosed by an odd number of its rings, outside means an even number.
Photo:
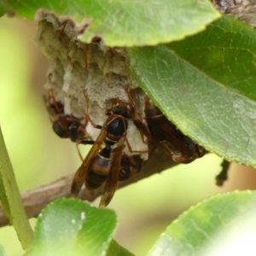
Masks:
[[[55,100],[53,90],[49,90],[49,95],[44,96],[44,102],[49,112],[49,117],[52,122],[53,131],[61,138],[70,138],[73,142],[85,136],[84,125],[81,124],[81,119],[73,115],[64,113],[64,106],[61,102]]]

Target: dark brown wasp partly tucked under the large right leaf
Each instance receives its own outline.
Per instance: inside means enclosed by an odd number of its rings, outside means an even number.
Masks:
[[[135,102],[127,86],[125,91],[131,105],[136,110]],[[148,137],[149,141],[162,148],[174,161],[187,164],[205,154],[205,149],[177,130],[177,127],[161,113],[160,109],[147,96],[144,113],[146,124],[137,111],[135,111],[134,124],[143,135]]]

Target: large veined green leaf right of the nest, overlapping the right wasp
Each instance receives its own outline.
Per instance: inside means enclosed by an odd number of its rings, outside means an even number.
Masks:
[[[184,134],[256,166],[255,30],[224,16],[183,41],[132,48],[131,72]]]

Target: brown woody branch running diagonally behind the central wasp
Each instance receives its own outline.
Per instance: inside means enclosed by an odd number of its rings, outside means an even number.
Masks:
[[[146,164],[143,166],[142,172],[137,176],[120,182],[119,187],[123,188],[132,183],[136,183],[143,178],[149,177],[157,172],[162,172],[168,168],[177,166],[177,163],[169,156],[164,154],[160,149],[156,148]],[[21,193],[22,202],[26,210],[27,218],[38,217],[38,214],[46,207],[49,202],[55,201],[61,197],[70,197],[70,188],[73,180],[73,174],[67,177],[62,177],[54,183],[49,183],[45,186],[31,189]],[[79,193],[79,198],[87,201],[94,201],[99,195],[102,195],[103,186],[93,191],[83,189]],[[0,227],[9,224],[9,219],[4,215],[2,207],[0,208]]]

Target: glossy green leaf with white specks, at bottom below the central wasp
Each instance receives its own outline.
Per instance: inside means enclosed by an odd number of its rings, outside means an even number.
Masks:
[[[106,255],[116,214],[75,199],[60,199],[39,215],[32,256]]]

